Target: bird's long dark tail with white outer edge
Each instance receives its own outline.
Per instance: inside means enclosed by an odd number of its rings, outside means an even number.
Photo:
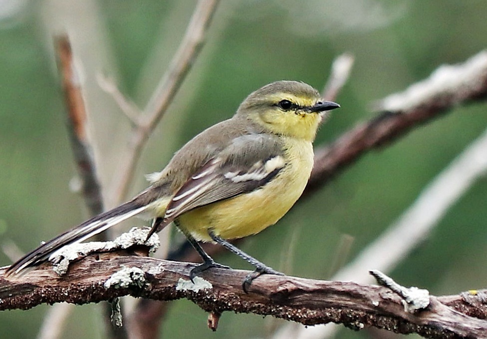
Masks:
[[[17,274],[28,268],[32,268],[47,261],[49,257],[60,248],[79,243],[95,234],[115,226],[122,221],[137,215],[147,209],[147,204],[140,203],[140,200],[132,200],[112,210],[103,212],[84,223],[66,231],[52,240],[40,245],[35,250],[13,263],[5,272],[5,276]]]

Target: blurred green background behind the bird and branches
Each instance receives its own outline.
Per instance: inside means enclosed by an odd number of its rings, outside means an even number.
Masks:
[[[106,189],[130,125],[96,79],[100,74],[114,78],[127,97],[144,107],[195,3],[0,0],[3,248],[13,242],[27,252],[87,217],[82,199],[70,189],[76,171],[53,35],[67,31],[71,37]],[[189,138],[230,117],[251,91],[280,79],[322,89],[333,59],[350,52],[355,65],[337,98],[342,108],[333,111],[315,145],[332,142],[373,118],[374,101],[428,77],[443,63],[463,62],[484,49],[486,13],[482,0],[222,1],[199,58],[143,150],[129,195],[146,187],[144,174],[160,170]],[[387,229],[486,126],[485,103],[458,107],[362,157],[241,248],[287,274],[330,278]],[[435,295],[485,288],[486,192],[483,178],[390,275]],[[349,244],[347,251],[344,243]],[[249,269],[232,255],[218,261]],[[0,251],[0,265],[10,263]],[[48,308],[2,312],[0,337],[34,338]],[[61,338],[105,338],[101,314],[98,305],[76,307]],[[174,302],[161,338],[266,338],[285,323],[225,313],[212,333],[206,317],[189,301]],[[373,338],[370,332],[343,327],[338,336]]]

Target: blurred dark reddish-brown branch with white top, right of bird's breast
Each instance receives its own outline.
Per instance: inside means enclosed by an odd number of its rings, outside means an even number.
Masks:
[[[367,151],[383,146],[411,129],[450,109],[487,97],[487,51],[463,64],[442,66],[430,78],[376,104],[380,115],[342,135],[333,144],[317,149],[315,165],[305,190],[322,187]]]

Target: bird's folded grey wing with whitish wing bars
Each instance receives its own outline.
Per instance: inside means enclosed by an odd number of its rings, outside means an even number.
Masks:
[[[277,136],[248,134],[238,137],[194,173],[167,206],[164,224],[196,207],[254,191],[285,166]]]

